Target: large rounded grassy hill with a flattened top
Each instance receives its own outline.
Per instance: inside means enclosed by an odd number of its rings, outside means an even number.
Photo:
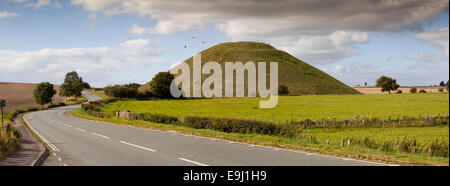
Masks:
[[[355,89],[345,85],[321,70],[295,58],[294,56],[277,50],[274,47],[257,42],[228,42],[212,46],[202,52],[202,64],[216,61],[222,65],[222,74],[225,72],[225,62],[248,61],[266,62],[267,86],[269,86],[269,63],[278,62],[278,84],[285,85],[289,89],[289,95],[304,94],[358,94]],[[185,60],[191,68],[193,58]],[[202,80],[209,75],[202,75]],[[192,86],[192,78],[191,78]],[[223,81],[224,95],[225,81]],[[247,96],[247,72],[245,73],[245,95]],[[141,86],[140,91],[149,89],[149,83]],[[191,88],[192,91],[192,88]],[[192,94],[191,94],[192,95]]]

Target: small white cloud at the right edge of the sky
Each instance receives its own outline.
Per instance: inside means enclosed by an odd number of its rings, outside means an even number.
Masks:
[[[425,63],[439,63],[449,60],[449,28],[427,30],[414,35],[418,40],[432,44],[435,51],[412,53],[407,57]]]

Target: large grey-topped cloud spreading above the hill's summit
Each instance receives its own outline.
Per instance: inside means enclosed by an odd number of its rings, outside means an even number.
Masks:
[[[357,53],[368,32],[422,30],[448,9],[448,0],[71,0],[106,15],[135,14],[156,25],[134,24],[134,35],[172,34],[212,24],[232,40],[268,42],[313,64]],[[332,8],[330,8],[332,7]]]

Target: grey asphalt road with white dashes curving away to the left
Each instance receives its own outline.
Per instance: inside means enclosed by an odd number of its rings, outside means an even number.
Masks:
[[[98,99],[90,92],[83,95],[89,100]],[[90,121],[67,114],[79,107],[65,106],[24,115],[48,142],[50,156],[44,165],[380,165]]]

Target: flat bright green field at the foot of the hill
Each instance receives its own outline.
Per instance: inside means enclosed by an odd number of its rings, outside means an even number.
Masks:
[[[263,98],[218,98],[197,100],[118,101],[103,111],[117,110],[165,114],[183,119],[186,116],[210,116],[256,119],[264,121],[298,121],[304,119],[336,120],[360,117],[446,115],[448,93],[378,94],[378,95],[308,95],[281,96],[273,109],[258,108]]]

